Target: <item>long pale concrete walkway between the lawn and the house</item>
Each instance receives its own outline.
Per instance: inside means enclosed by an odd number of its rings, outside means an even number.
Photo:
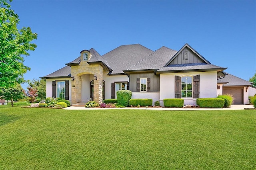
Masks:
[[[231,105],[228,108],[168,108],[168,107],[123,107],[123,108],[94,108],[94,107],[66,107],[66,110],[102,110],[102,109],[140,109],[140,110],[244,110],[254,108],[252,105]]]

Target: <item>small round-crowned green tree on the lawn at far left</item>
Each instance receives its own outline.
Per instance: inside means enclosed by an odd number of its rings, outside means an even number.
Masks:
[[[23,88],[20,86],[20,84],[16,84],[15,86],[9,88],[1,87],[0,96],[5,100],[10,100],[13,107],[13,101],[24,98]]]

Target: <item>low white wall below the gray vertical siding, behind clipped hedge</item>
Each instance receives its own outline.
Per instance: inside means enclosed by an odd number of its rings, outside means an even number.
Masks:
[[[152,99],[152,106],[159,98],[160,92],[132,92],[132,99]]]

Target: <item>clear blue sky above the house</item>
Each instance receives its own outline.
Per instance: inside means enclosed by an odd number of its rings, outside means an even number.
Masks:
[[[27,80],[73,61],[84,49],[100,55],[120,45],[179,50],[188,43],[212,64],[249,80],[256,72],[256,1],[13,0],[19,27],[38,33],[24,57]],[[23,85],[26,87],[26,84]]]

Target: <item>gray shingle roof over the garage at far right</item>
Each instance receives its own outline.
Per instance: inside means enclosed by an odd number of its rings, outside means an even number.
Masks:
[[[236,77],[232,74],[226,75],[224,78],[217,80],[217,83],[223,83],[223,86],[251,86],[252,84],[242,78]]]

